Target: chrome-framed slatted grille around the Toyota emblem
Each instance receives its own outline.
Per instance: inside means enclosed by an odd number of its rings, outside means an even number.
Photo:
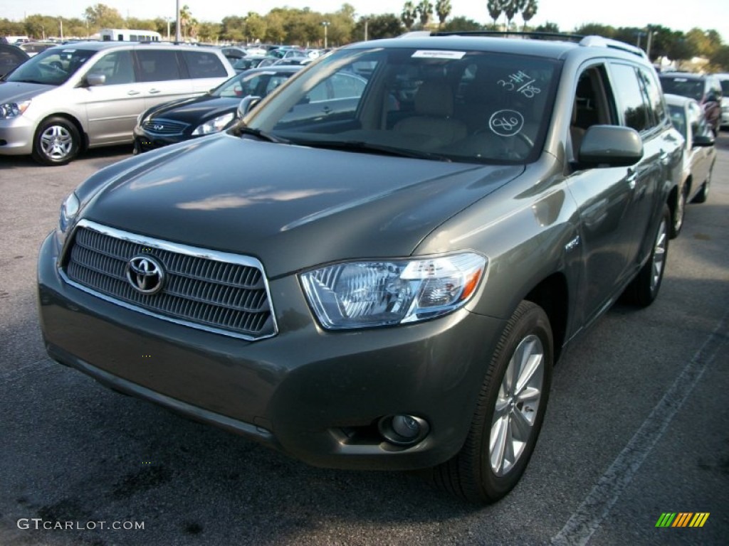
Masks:
[[[135,256],[149,256],[165,272],[152,295],[127,277]],[[79,222],[63,272],[68,280],[115,303],[196,328],[260,339],[276,334],[262,266],[254,258],[139,237]]]

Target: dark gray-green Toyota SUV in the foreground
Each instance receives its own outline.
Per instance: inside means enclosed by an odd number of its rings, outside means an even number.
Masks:
[[[340,74],[366,83],[328,108]],[[255,100],[63,202],[47,352],[311,464],[504,496],[564,349],[658,294],[683,139],[654,69],[596,36],[421,36]]]

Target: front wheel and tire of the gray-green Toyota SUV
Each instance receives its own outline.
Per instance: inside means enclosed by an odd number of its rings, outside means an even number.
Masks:
[[[464,446],[433,469],[434,483],[469,502],[496,502],[518,483],[542,428],[553,336],[541,307],[522,301],[486,372]]]

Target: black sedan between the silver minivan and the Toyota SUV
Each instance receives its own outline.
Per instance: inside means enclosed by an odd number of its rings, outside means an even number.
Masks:
[[[301,66],[252,68],[236,74],[205,95],[149,108],[134,127],[134,153],[219,132],[235,123],[238,105],[248,95],[265,97]]]

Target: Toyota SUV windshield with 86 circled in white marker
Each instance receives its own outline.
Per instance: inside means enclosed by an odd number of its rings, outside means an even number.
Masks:
[[[534,161],[559,64],[493,52],[339,50],[243,120],[304,146],[446,161]]]

